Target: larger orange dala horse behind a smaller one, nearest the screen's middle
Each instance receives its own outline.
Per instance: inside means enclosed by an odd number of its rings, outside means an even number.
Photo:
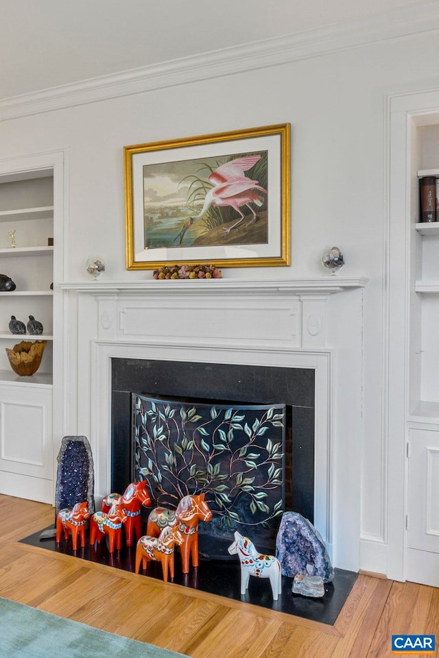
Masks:
[[[177,526],[184,537],[180,546],[182,572],[189,573],[189,557],[192,566],[198,567],[198,522],[210,521],[212,512],[204,500],[204,493],[189,494],[178,503],[175,511],[165,507],[156,507],[150,513],[146,533],[150,537],[158,537],[166,526]]]

